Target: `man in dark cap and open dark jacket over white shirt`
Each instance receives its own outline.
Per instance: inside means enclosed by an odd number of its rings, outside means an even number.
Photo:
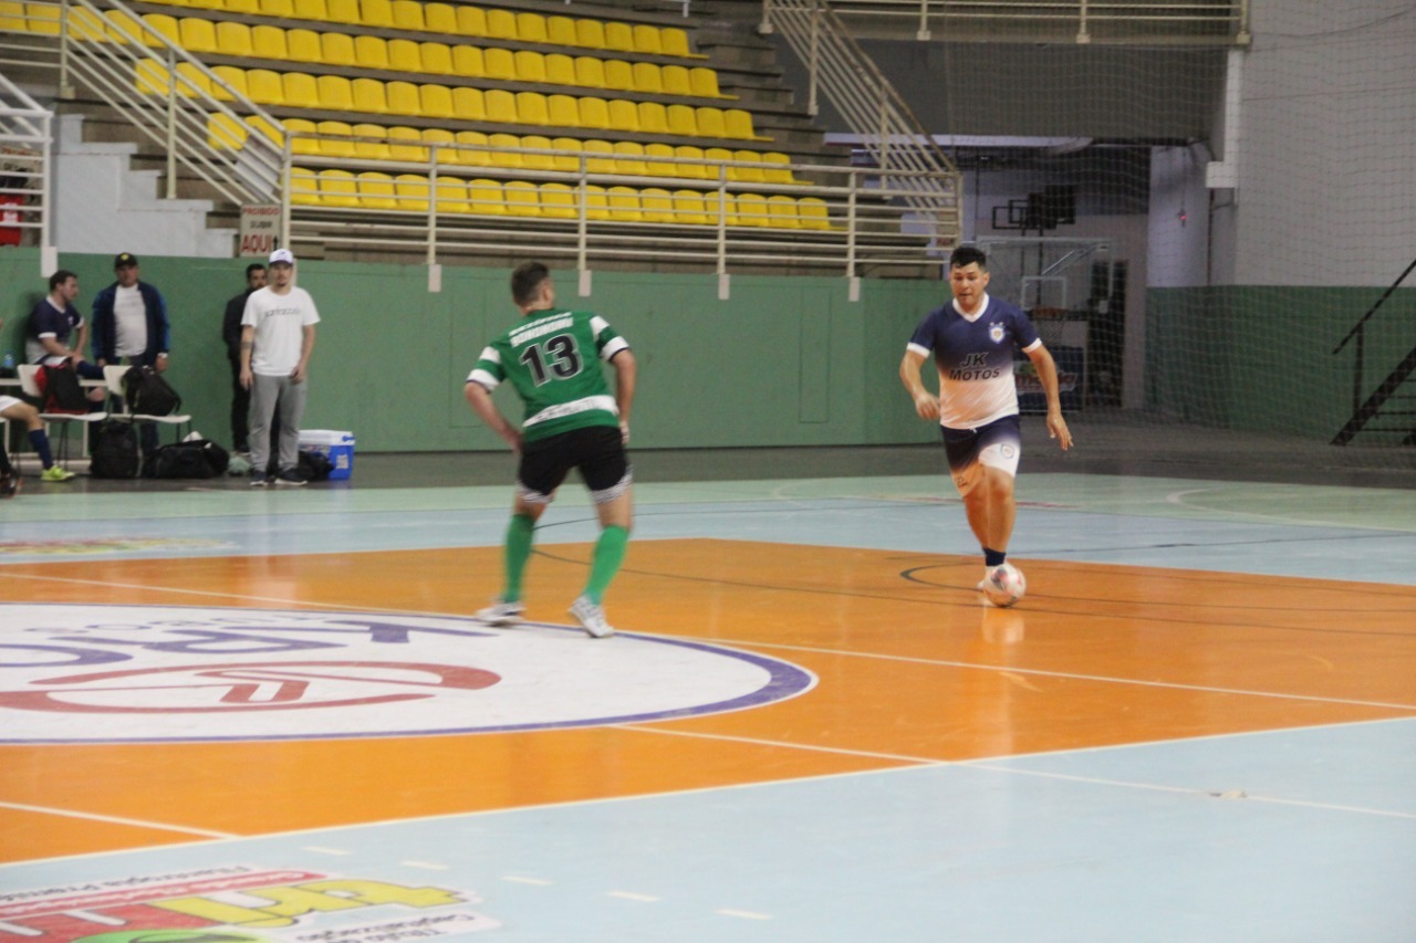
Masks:
[[[137,256],[119,252],[113,258],[118,279],[93,297],[93,361],[99,367],[135,364],[167,370],[171,328],[161,293],[139,279]],[[157,426],[142,423],[143,455],[157,449]]]

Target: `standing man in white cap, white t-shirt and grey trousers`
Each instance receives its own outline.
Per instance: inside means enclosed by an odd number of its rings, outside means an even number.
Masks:
[[[276,484],[300,486],[300,418],[304,382],[314,353],[314,299],[295,286],[295,255],[270,253],[269,283],[246,299],[241,316],[241,385],[251,391],[251,484],[270,483],[270,422],[279,409],[280,455]]]

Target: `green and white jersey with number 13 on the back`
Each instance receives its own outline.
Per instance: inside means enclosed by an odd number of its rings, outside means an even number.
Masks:
[[[467,382],[487,391],[510,379],[525,404],[525,442],[588,426],[619,426],[600,362],[629,343],[599,314],[535,312],[487,344]]]

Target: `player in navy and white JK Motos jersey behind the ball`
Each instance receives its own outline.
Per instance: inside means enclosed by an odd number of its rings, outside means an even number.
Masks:
[[[1048,435],[1062,449],[1072,447],[1052,354],[1028,316],[990,297],[987,287],[987,256],[973,246],[954,249],[949,256],[953,302],[919,323],[899,364],[899,378],[915,401],[915,412],[920,419],[939,421],[949,471],[963,497],[969,528],[983,548],[984,579],[1007,559],[1017,514],[1012,480],[1022,436],[1012,381],[1015,348],[1038,371],[1048,401]],[[939,370],[937,396],[920,379],[920,368],[930,355]]]

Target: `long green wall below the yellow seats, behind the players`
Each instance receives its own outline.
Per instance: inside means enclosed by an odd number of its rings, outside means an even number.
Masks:
[[[142,256],[142,278],[167,299],[173,324],[169,379],[194,426],[229,445],[229,372],[221,314],[242,290],[245,261]],[[79,310],[112,282],[112,256],[64,253],[79,275]],[[38,256],[0,253],[0,351],[21,355],[23,321],[45,292]],[[361,452],[501,447],[462,398],[486,341],[517,312],[510,270],[445,268],[428,292],[421,266],[300,262],[297,282],[323,319],[310,370],[307,429],[347,429]],[[940,303],[940,282],[861,283],[840,278],[595,272],[590,297],[576,273],[558,272],[562,304],[605,316],[640,362],[634,445],[886,445],[932,442],[896,378],[915,323]],[[497,401],[515,409],[510,389]]]

